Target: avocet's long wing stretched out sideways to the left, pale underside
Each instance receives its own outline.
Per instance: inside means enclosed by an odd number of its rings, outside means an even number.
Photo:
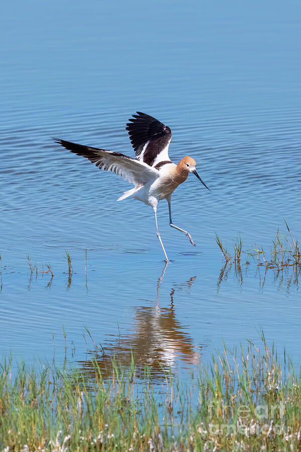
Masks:
[[[54,138],[54,141],[68,149],[68,151],[90,160],[99,169],[112,171],[135,186],[142,186],[159,177],[159,171],[157,169],[119,152],[92,148],[58,138]]]

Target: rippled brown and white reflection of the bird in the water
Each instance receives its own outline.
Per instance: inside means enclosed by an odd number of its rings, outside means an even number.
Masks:
[[[132,359],[136,365],[136,375],[144,374],[145,366],[151,376],[160,377],[165,369],[193,368],[199,361],[202,346],[196,347],[192,338],[186,331],[186,326],[176,319],[174,299],[178,291],[187,294],[193,285],[196,276],[180,284],[173,284],[170,289],[170,304],[160,306],[160,288],[167,269],[167,263],[157,280],[157,299],[154,306],[141,306],[136,308],[133,332],[120,334],[114,341],[105,346],[88,350],[85,361],[77,361],[80,372],[93,378],[96,360],[103,378],[109,377],[113,372],[112,359],[120,363],[123,368],[131,366]]]

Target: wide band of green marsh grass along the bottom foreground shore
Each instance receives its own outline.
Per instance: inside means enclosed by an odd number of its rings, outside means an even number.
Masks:
[[[301,380],[262,334],[259,351],[216,352],[185,385],[165,373],[137,384],[135,363],[113,359],[105,379],[66,367],[30,369],[12,359],[0,375],[0,450],[300,450]]]

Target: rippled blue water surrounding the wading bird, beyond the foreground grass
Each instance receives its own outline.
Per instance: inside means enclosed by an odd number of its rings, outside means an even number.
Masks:
[[[284,347],[298,365],[300,292],[291,267],[264,275],[256,260],[224,268],[215,231],[233,252],[263,246],[278,225],[301,236],[301,39],[297,2],[201,5],[131,1],[6,4],[0,125],[0,351],[18,360],[134,353],[153,375],[185,375],[222,340]],[[174,162],[195,177],[175,191],[159,230],[153,212],[116,199],[131,188],[51,137],[133,155],[136,111],[172,130]],[[67,251],[73,274],[68,274]],[[86,255],[85,255],[86,253]],[[38,272],[31,274],[29,255]],[[53,278],[47,270],[50,263]],[[86,266],[86,271],[85,271]]]

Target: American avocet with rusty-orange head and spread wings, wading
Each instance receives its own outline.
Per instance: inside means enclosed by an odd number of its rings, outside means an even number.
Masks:
[[[134,188],[125,191],[117,199],[132,197],[150,205],[154,209],[156,221],[156,234],[161,244],[165,260],[168,257],[164,249],[157,222],[157,206],[161,199],[166,199],[169,209],[169,224],[171,228],[185,234],[191,245],[195,247],[190,234],[184,229],[174,225],[171,219],[171,194],[176,187],[184,182],[189,173],[194,174],[206,187],[195,169],[195,161],[191,157],[183,157],[177,165],[168,157],[168,146],[171,140],[169,127],[164,126],[152,116],[137,111],[137,115],[129,119],[126,129],[135,150],[135,158],[121,154],[120,152],[106,149],[92,148],[69,141],[54,139],[67,150],[76,155],[81,155],[95,163],[102,170],[112,171],[124,180],[132,183]],[[208,188],[208,190],[210,190]]]

